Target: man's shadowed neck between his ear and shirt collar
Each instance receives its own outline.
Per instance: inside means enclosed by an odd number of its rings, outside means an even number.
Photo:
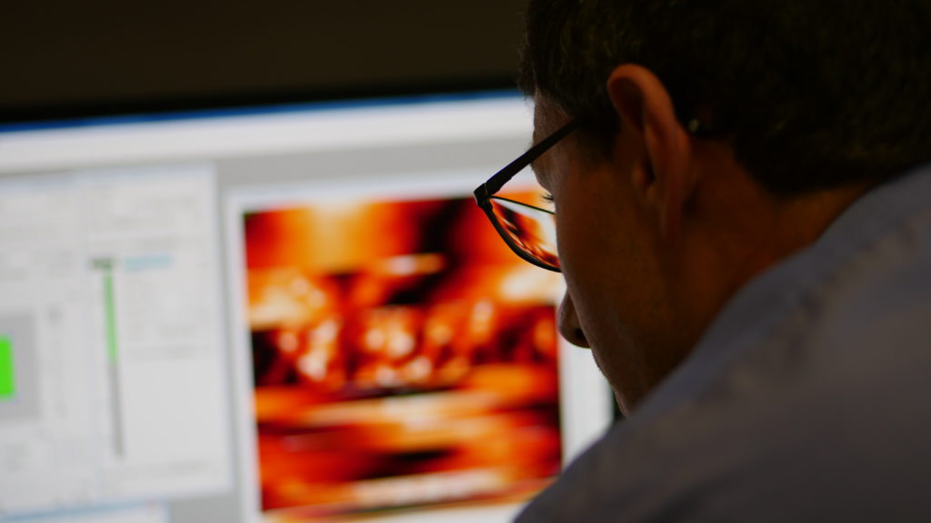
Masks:
[[[709,169],[689,209],[689,231],[670,256],[681,300],[682,342],[693,346],[735,293],[816,242],[870,185],[794,196],[766,191],[735,163]]]

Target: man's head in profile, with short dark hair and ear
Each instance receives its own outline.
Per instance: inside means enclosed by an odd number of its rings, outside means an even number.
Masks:
[[[622,409],[752,276],[931,157],[931,4],[531,0],[522,85],[568,285]]]

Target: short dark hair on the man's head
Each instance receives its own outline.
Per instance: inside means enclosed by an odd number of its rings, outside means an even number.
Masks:
[[[638,63],[796,194],[931,158],[929,32],[928,0],[530,0],[519,83],[604,136],[607,78]]]

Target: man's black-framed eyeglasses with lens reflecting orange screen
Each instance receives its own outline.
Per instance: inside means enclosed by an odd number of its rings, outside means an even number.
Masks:
[[[560,272],[560,258],[556,250],[555,213],[546,208],[496,196],[516,174],[533,163],[560,140],[569,136],[578,121],[572,120],[543,141],[533,145],[518,159],[494,173],[492,178],[475,190],[475,201],[492,221],[494,229],[505,240],[507,247],[537,267]]]

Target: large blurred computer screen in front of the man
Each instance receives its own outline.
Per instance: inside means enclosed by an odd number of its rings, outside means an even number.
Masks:
[[[612,421],[471,198],[531,128],[502,92],[0,127],[0,519],[508,520]]]

